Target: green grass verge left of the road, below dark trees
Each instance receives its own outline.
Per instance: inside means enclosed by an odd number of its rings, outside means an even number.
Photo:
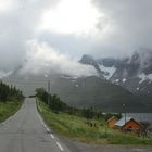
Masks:
[[[5,103],[0,102],[0,123],[13,115],[22,106],[22,103],[23,102],[17,99]]]

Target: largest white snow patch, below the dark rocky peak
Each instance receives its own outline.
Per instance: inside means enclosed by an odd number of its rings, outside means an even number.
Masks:
[[[110,79],[113,76],[113,74],[115,73],[115,71],[116,71],[116,68],[114,66],[105,67],[102,64],[99,64],[99,68],[104,72],[104,77],[106,79]]]

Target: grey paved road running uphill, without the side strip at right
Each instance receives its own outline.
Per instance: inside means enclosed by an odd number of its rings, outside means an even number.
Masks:
[[[69,152],[40,118],[34,99],[0,124],[0,152]]]

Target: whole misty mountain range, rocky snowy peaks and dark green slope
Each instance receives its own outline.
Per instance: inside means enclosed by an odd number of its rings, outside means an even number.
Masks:
[[[135,52],[131,56],[124,59],[94,59],[88,54],[83,55],[79,67],[91,67],[96,71],[96,75],[83,74],[83,71],[81,75],[66,74],[66,71],[65,73],[60,71],[46,73],[45,68],[38,73],[25,72],[25,66],[29,63],[26,61],[27,63],[18,66],[3,80],[17,86],[25,96],[29,96],[35,94],[35,89],[39,87],[47,90],[50,79],[51,93],[59,94],[62,101],[72,106],[93,106],[103,111],[122,112],[122,105],[126,104],[128,112],[151,112],[152,104],[149,98],[152,91],[151,60],[152,53],[149,50]],[[76,73],[76,66],[73,68]]]

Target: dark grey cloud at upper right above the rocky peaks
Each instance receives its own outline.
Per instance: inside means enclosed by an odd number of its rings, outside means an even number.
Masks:
[[[106,55],[128,55],[138,48],[152,48],[151,0],[93,0],[111,22],[112,28],[98,48]],[[106,50],[106,52],[105,52]],[[101,51],[102,52],[102,51]]]

